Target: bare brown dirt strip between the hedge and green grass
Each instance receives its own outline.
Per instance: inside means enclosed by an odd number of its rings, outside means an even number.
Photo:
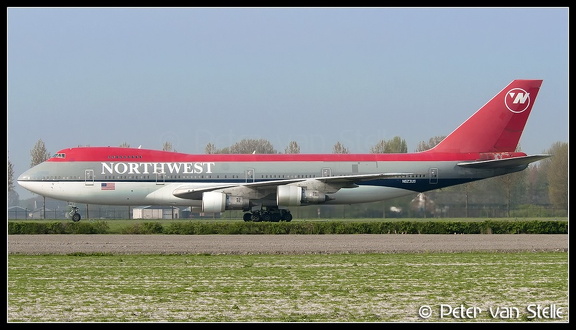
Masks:
[[[9,254],[568,251],[568,235],[9,235]]]

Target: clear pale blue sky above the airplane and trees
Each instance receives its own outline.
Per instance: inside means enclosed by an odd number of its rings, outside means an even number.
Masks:
[[[514,79],[543,79],[520,140],[568,142],[567,7],[7,8],[14,180],[42,140],[204,153],[368,153],[452,132]],[[21,199],[31,193],[16,184]]]

